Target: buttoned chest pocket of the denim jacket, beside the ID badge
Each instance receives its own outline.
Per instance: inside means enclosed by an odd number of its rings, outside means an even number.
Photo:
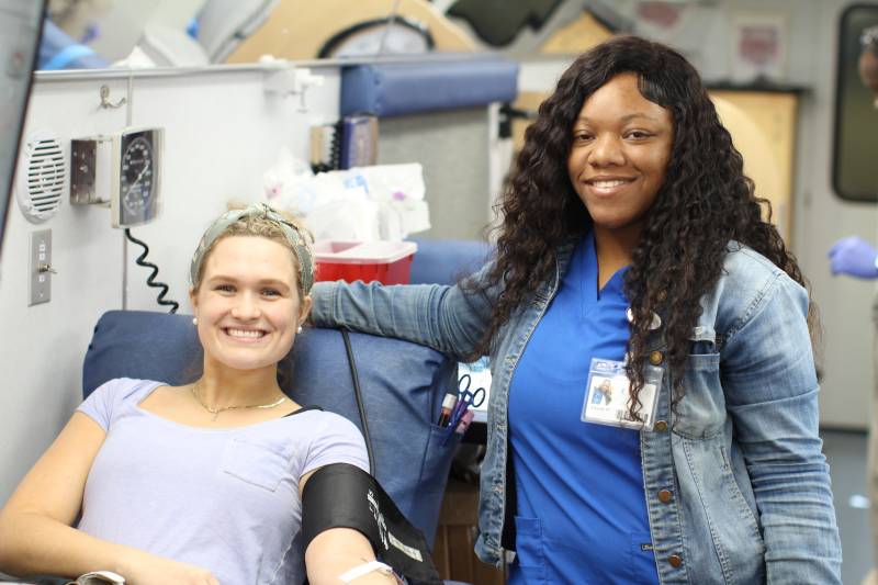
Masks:
[[[683,396],[675,407],[673,428],[688,439],[709,439],[722,431],[727,418],[716,333],[696,327],[689,348]]]

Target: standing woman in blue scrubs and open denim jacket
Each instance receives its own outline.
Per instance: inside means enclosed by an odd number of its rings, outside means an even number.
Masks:
[[[511,584],[841,583],[809,294],[742,169],[695,68],[615,38],[528,128],[493,262],[315,288],[318,325],[491,356],[476,552]]]

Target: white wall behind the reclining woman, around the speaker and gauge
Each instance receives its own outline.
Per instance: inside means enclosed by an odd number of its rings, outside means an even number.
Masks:
[[[282,146],[307,158],[307,128],[338,115],[338,71],[320,69],[323,88],[297,98],[267,97],[259,70],[216,69],[172,77],[137,77],[131,122],[166,130],[162,215],[134,228],[150,246],[149,259],[188,312],[189,259],[207,223],[229,198],[256,200],[261,178]],[[41,77],[35,83],[24,135],[54,132],[69,151],[74,137],[109,134],[125,126],[126,110],[100,110],[98,88],[125,94],[124,79]],[[0,274],[0,503],[46,449],[81,400],[82,358],[100,315],[122,307],[121,230],[104,207],[66,201],[42,225],[30,224],[12,204]],[[50,228],[52,302],[27,306],[30,234]],[[128,260],[128,308],[158,310],[145,284],[146,269]]]

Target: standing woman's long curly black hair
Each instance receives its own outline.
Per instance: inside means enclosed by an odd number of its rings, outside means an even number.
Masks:
[[[498,329],[538,286],[555,275],[556,250],[584,235],[592,217],[573,189],[567,156],[583,103],[616,75],[634,74],[644,98],[667,109],[674,144],[665,182],[648,213],[624,292],[634,314],[630,327],[629,414],[640,419],[638,395],[648,361],[652,313],[663,316],[675,403],[689,335],[701,313],[699,299],[717,283],[729,240],[758,251],[806,285],[795,257],[769,223],[770,205],[754,194],[743,158],[732,145],[696,69],[674,49],[642,38],[612,38],[578,57],[539,109],[525,134],[510,181],[499,203],[497,258],[486,279],[465,283],[486,291],[500,285],[476,353],[487,353]],[[763,220],[767,212],[768,221]],[[809,311],[809,326],[813,323]]]

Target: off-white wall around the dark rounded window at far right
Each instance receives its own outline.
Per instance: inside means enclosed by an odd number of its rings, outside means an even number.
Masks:
[[[832,277],[826,251],[837,238],[853,234],[875,243],[878,206],[843,201],[832,189],[837,23],[849,3],[814,0],[809,4],[796,14],[810,29],[797,34],[790,47],[791,61],[801,75],[811,75],[812,88],[799,114],[793,250],[822,313],[821,423],[866,428],[875,386],[875,283]]]

